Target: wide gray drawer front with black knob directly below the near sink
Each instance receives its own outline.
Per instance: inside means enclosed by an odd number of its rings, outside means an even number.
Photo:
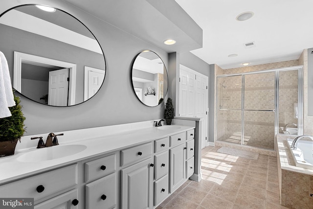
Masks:
[[[29,197],[34,201],[77,185],[77,164],[61,167],[0,186],[1,197]]]

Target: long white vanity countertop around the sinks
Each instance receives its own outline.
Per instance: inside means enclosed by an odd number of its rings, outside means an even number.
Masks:
[[[126,147],[136,146],[147,142],[154,141],[163,137],[177,134],[186,130],[195,128],[194,126],[175,125],[179,129],[165,129],[160,130],[157,127],[144,127],[137,129],[120,129],[123,125],[115,125],[113,128],[110,126],[87,128],[81,130],[64,131],[64,136],[58,136],[59,145],[85,145],[87,148],[79,153],[69,155],[62,158],[57,158],[47,161],[39,162],[20,162],[18,158],[26,152],[38,150],[36,147],[28,147],[23,149],[16,148],[15,154],[12,156],[0,158],[0,184],[14,181],[28,175],[36,174],[56,167],[61,167],[82,161],[91,157],[99,156],[102,154],[110,153]],[[108,134],[108,130],[111,133]],[[114,131],[115,130],[115,131]],[[122,131],[121,131],[122,130]],[[75,135],[76,133],[76,135]],[[84,133],[82,137],[81,133]],[[36,135],[37,136],[37,135]],[[39,135],[38,135],[39,136]],[[75,136],[75,139],[68,139],[68,137]],[[30,140],[31,136],[22,138],[22,140],[32,141],[37,145],[38,140]],[[45,142],[46,136],[43,138]],[[27,143],[29,143],[27,141]],[[33,142],[35,141],[35,142]],[[19,142],[18,142],[19,143]],[[21,143],[22,144],[22,143]],[[44,147],[41,149],[48,149]],[[40,157],[40,156],[38,156]]]

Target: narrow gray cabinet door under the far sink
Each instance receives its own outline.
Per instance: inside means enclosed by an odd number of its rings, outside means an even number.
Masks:
[[[184,147],[185,144],[170,149],[170,188],[171,193],[179,188],[184,182]]]

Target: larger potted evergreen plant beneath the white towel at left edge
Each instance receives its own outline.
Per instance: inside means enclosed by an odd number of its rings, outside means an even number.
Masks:
[[[0,157],[14,155],[15,146],[24,134],[24,120],[20,98],[14,94],[15,106],[9,107],[12,116],[0,118]]]

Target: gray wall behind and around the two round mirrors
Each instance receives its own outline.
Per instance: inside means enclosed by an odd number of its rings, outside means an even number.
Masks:
[[[150,49],[156,52],[167,66],[166,52],[66,2],[24,0],[22,3],[48,4],[78,18],[97,38],[104,51],[107,66],[105,81],[99,92],[83,104],[52,107],[35,103],[21,96],[22,111],[26,117],[25,135],[133,123],[163,117],[164,105],[148,107],[137,99],[130,75],[134,57],[139,52]],[[19,0],[1,0],[0,13],[22,3]],[[0,51],[2,51],[1,44]]]

